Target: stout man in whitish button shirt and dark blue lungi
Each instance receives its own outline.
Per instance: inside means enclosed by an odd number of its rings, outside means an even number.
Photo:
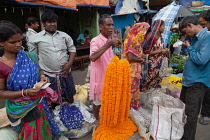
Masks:
[[[57,30],[58,16],[51,10],[45,10],[41,16],[45,30],[29,37],[29,51],[39,56],[39,65],[50,79],[50,87],[62,98],[73,102],[76,93],[71,74],[76,48],[72,38]]]

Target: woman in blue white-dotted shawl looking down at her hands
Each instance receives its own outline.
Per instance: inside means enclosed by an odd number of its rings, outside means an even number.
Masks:
[[[6,99],[8,119],[20,140],[51,140],[60,136],[44,96],[34,84],[48,82],[39,71],[33,53],[22,51],[21,30],[11,22],[0,22],[0,99]],[[40,76],[41,75],[41,76]]]

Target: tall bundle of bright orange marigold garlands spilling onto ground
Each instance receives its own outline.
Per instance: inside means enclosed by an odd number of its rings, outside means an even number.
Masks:
[[[100,126],[94,140],[123,140],[137,127],[128,118],[131,100],[130,65],[126,59],[113,57],[106,69],[102,90]]]

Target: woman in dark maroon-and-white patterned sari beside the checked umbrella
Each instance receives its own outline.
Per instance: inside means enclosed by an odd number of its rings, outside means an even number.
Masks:
[[[163,20],[155,20],[151,27],[151,32],[147,35],[144,42],[143,51],[148,55],[148,69],[142,90],[150,88],[160,88],[161,77],[159,70],[162,64],[162,58],[169,52],[168,48],[163,48],[161,33],[165,29]]]

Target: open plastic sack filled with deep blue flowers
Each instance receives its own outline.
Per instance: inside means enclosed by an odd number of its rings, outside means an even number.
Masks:
[[[95,118],[87,110],[88,107],[80,101],[56,106],[54,119],[65,137],[80,138],[91,132]]]

